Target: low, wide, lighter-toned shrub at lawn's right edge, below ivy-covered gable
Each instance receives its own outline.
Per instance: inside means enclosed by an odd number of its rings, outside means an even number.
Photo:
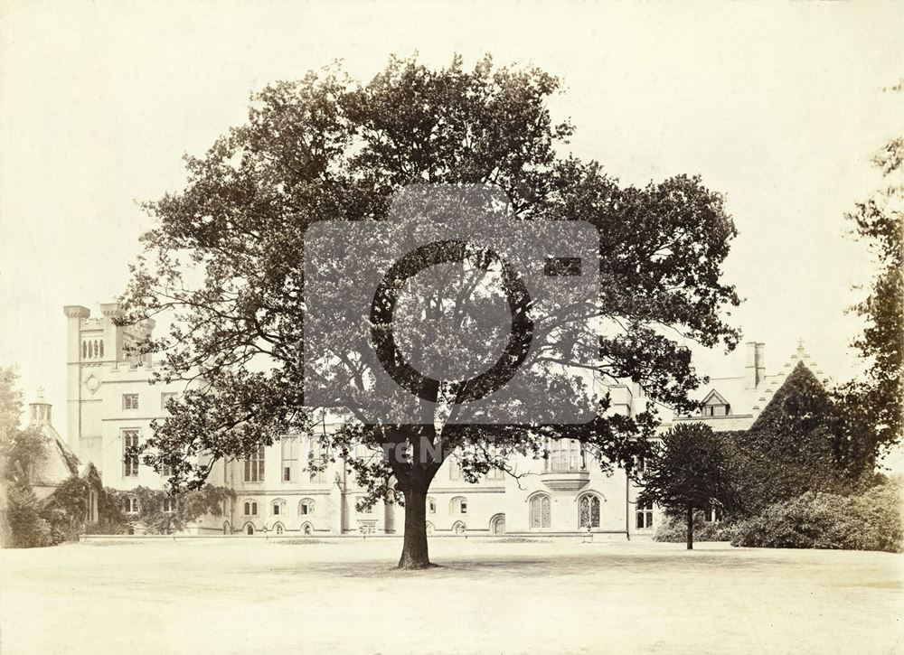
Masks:
[[[808,491],[738,525],[732,546],[902,551],[901,482],[860,494]]]

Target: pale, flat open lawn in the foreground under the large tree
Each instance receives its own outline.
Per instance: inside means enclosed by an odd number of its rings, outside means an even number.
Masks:
[[[81,543],[0,551],[18,653],[904,652],[904,559],[606,541]]]

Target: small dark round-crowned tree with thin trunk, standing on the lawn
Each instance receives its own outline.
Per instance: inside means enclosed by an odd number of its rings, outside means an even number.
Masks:
[[[682,424],[663,436],[663,444],[643,475],[639,504],[654,502],[672,516],[687,516],[687,548],[693,548],[693,510],[718,504],[726,510],[739,505],[732,474],[732,448],[709,426]]]

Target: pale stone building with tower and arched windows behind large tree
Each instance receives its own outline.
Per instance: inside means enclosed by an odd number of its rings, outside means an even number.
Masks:
[[[184,383],[150,384],[154,362],[129,348],[154,329],[148,322],[118,327],[116,304],[100,305],[100,315],[68,305],[67,441],[82,464],[92,463],[105,486],[120,491],[146,486],[163,489],[167,472],[155,473],[130,454],[151,434],[151,421],[166,416],[166,402]],[[672,422],[697,421],[715,430],[749,427],[797,361],[822,377],[799,346],[777,373],[767,375],[765,347],[746,344],[747,365],[735,378],[711,379],[699,389],[702,412],[673,416]],[[645,407],[636,384],[609,388],[613,411],[630,415]],[[48,409],[49,411],[49,409]],[[669,424],[664,425],[664,428]],[[329,431],[335,426],[323,425]],[[288,435],[261,447],[248,460],[216,463],[210,482],[235,491],[223,516],[204,516],[190,527],[197,534],[385,535],[400,533],[404,509],[378,503],[359,509],[365,491],[343,463],[324,471],[308,469],[318,459],[317,439]],[[624,471],[607,474],[576,442],[549,444],[549,457],[519,457],[511,463],[517,477],[490,473],[466,482],[454,457],[447,458],[430,487],[428,531],[436,535],[586,534],[633,538],[652,534],[661,519],[657,508],[638,506],[637,488]],[[123,510],[137,516],[137,504]],[[136,521],[133,529],[140,533]]]

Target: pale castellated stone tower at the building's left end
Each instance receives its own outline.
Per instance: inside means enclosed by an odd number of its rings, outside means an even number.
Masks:
[[[118,489],[138,484],[161,487],[163,476],[127,457],[126,449],[151,435],[150,422],[165,416],[165,401],[182,390],[177,384],[149,384],[150,355],[130,346],[150,338],[154,322],[120,327],[118,304],[63,307],[67,322],[67,435],[81,462],[94,463],[104,483]]]

